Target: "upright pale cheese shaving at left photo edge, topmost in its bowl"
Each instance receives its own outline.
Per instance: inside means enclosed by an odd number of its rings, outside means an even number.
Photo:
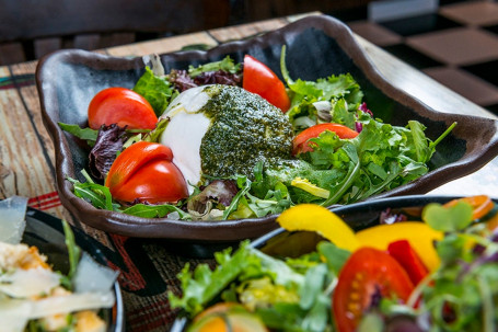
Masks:
[[[12,196],[0,201],[0,242],[18,244],[26,227],[27,198]]]

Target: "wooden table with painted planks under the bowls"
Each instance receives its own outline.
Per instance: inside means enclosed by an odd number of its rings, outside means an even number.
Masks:
[[[137,43],[99,50],[104,54],[131,57],[153,53],[170,53],[193,44],[216,46],[231,39],[244,38],[275,30],[300,16],[274,19],[247,25],[224,27]],[[420,71],[397,60],[358,36],[371,59],[396,87],[415,95],[437,111],[473,114],[496,118],[486,110],[465,100]],[[177,290],[175,275],[188,260],[169,252],[154,241],[107,234],[91,229],[69,215],[61,206],[55,186],[54,146],[42,123],[34,72],[36,62],[0,67],[0,198],[12,195],[30,197],[32,207],[72,221],[102,243],[113,267],[120,270],[120,285],[127,308],[129,331],[165,331],[174,320],[166,290]],[[498,193],[498,159],[478,172],[448,183],[432,194],[470,195]],[[153,273],[142,275],[140,271]]]

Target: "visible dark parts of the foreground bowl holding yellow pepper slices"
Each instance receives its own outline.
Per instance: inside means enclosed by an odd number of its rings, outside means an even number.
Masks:
[[[460,197],[426,195],[387,197],[345,205],[332,208],[332,210],[343,218],[343,220],[345,220],[355,231],[359,231],[379,225],[380,216],[386,209],[391,209],[393,214],[403,213],[412,216],[410,220],[420,220],[419,214],[429,203],[444,204],[455,198]],[[257,248],[271,256],[298,257],[316,251],[316,245],[323,240],[324,239],[315,232],[289,232],[283,228],[277,228],[252,241],[251,247]],[[174,321],[170,332],[185,331],[188,323],[188,319],[181,312]]]

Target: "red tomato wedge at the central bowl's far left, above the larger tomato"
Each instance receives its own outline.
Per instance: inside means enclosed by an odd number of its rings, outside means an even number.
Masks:
[[[89,105],[89,125],[99,129],[102,125],[117,124],[129,129],[153,129],[158,123],[154,110],[137,92],[125,88],[104,89]]]

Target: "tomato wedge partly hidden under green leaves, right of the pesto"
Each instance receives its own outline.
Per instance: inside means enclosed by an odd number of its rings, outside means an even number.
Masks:
[[[341,139],[345,138],[355,138],[359,135],[358,131],[350,129],[344,125],[339,124],[319,124],[311,126],[302,130],[298,136],[292,140],[292,154],[299,154],[304,152],[313,151],[313,142],[309,142],[311,138],[319,137],[323,131],[328,130],[336,133],[337,136]]]

